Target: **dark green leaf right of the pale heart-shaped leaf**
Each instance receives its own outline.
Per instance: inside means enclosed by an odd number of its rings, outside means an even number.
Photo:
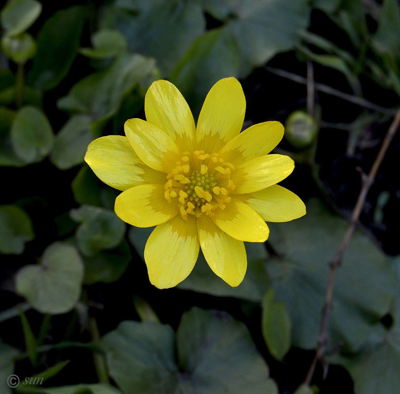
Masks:
[[[118,247],[100,251],[93,257],[83,257],[85,265],[85,285],[103,282],[111,283],[120,278],[132,259],[128,242],[122,240]]]

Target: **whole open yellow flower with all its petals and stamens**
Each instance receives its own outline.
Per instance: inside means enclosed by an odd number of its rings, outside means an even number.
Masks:
[[[267,222],[306,213],[296,194],[276,185],[294,168],[268,154],[282,139],[269,121],[240,133],[246,100],[235,78],[208,93],[197,127],[182,94],[155,81],[144,101],[147,121],[128,119],[125,135],[88,146],[85,160],[106,184],[122,190],[115,213],[137,227],[156,226],[144,259],[150,282],[162,289],[183,281],[200,247],[216,275],[238,286],[246,273],[243,241],[264,242]]]

